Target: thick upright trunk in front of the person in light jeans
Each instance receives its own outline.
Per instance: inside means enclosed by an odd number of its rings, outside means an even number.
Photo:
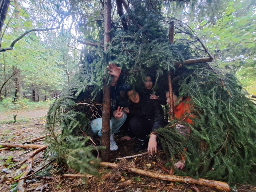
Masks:
[[[104,0],[104,51],[106,52],[107,44],[110,42],[111,30],[111,0]],[[102,160],[110,161],[110,85],[104,79],[103,87],[103,109],[102,109],[102,146],[106,146],[102,150]]]

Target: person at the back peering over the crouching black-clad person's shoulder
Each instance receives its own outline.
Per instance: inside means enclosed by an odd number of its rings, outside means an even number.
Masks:
[[[159,103],[161,105],[166,105],[166,100],[164,99],[164,96],[162,97],[160,93],[153,91],[152,89],[154,86],[153,79],[154,78],[151,74],[146,75],[145,80],[143,82],[144,84],[143,93],[146,96],[146,98],[159,100]]]

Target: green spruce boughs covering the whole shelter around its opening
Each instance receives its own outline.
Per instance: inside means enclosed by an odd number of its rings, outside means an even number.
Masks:
[[[140,16],[134,14],[137,9]],[[253,183],[256,172],[256,108],[246,98],[238,80],[208,64],[176,69],[175,62],[202,57],[193,49],[195,40],[192,40],[193,44],[188,43],[192,34],[184,31],[187,36],[170,44],[168,28],[160,22],[162,16],[159,12],[141,5],[134,5],[133,11],[128,16],[137,24],[126,31],[112,30],[107,52],[100,47],[97,51],[83,50],[80,71],[48,112],[46,128],[52,134],[48,138],[48,154],[67,162],[81,173],[99,175],[96,166],[100,159],[93,155],[96,148],[90,145],[84,133],[88,135],[89,119],[95,115],[90,109],[100,101],[102,79],[110,79],[106,66],[108,62],[115,62],[124,72],[119,80],[132,84],[134,88],[149,72],[156,76],[154,88],[158,87],[162,92],[168,87],[168,73],[172,77],[180,76],[175,83],[179,86],[180,96],[190,97],[194,106],[194,124],[182,122],[190,126],[190,136],[185,138],[175,128],[168,127],[177,120],[158,130],[170,165],[173,166],[187,148],[186,172],[177,170],[179,175]],[[61,133],[57,134],[57,130]]]

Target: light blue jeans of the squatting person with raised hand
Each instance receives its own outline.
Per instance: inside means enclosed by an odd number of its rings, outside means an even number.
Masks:
[[[123,112],[124,116],[120,119],[111,117],[110,120],[110,134],[119,132],[120,127],[124,124],[127,115]],[[102,129],[102,118],[94,119],[89,124],[92,133],[94,135],[98,135],[101,137],[101,129]]]

